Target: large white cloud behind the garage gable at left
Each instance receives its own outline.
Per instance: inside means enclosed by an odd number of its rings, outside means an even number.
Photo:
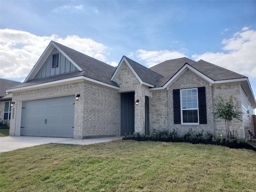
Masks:
[[[0,29],[1,78],[26,77],[51,40],[106,62],[106,46],[89,38],[67,36],[36,36],[29,32]],[[106,53],[107,54],[107,53]],[[112,62],[114,65],[114,62]]]

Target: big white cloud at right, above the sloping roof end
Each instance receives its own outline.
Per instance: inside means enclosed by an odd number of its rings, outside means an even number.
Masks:
[[[242,28],[232,38],[222,40],[224,52],[206,52],[202,55],[195,54],[194,60],[200,59],[227,68],[239,74],[256,78],[256,31]]]

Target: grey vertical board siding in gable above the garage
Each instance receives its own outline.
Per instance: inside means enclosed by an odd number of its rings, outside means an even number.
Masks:
[[[52,68],[52,55],[58,53],[58,66]],[[68,72],[78,71],[76,66],[74,66],[63,54],[61,54],[56,48],[52,51],[50,56],[46,59],[34,79],[39,79],[43,77],[48,77],[52,75],[58,75]]]

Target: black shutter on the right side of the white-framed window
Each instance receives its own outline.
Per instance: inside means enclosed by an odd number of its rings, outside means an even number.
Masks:
[[[198,87],[199,124],[207,124],[205,87]]]

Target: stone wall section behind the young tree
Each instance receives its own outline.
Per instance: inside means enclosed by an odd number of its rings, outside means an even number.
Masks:
[[[238,102],[240,110],[242,110],[242,98],[241,98],[241,84],[220,84],[212,86],[213,93],[213,102],[214,104],[218,103],[219,98],[221,97],[225,102],[229,100],[230,95],[233,95],[234,104]],[[234,119],[231,124],[231,130],[238,131],[238,137],[244,138],[244,127],[243,122]],[[222,119],[214,118],[214,131],[216,135],[222,134],[226,136],[226,126],[225,121]]]

